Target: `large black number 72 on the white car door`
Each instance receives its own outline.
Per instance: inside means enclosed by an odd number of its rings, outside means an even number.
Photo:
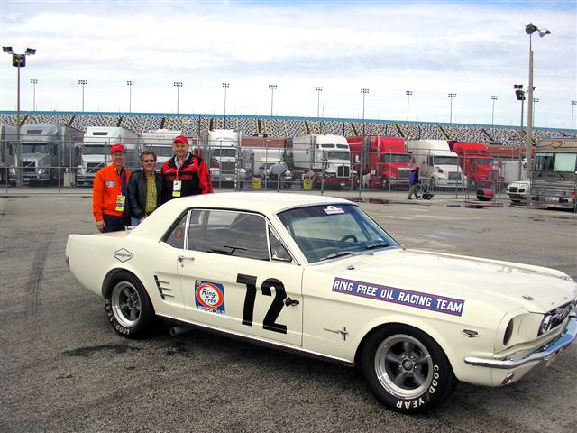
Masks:
[[[246,285],[246,296],[244,297],[243,325],[252,327],[252,316],[254,314],[254,302],[256,300],[256,277],[239,273],[236,282]],[[261,292],[264,296],[272,296],[270,288],[274,287],[275,295],[270,304],[267,314],[262,320],[262,327],[269,331],[287,333],[287,326],[276,323],[280,311],[284,307],[283,299],[287,298],[287,292],[282,282],[276,278],[268,278],[261,284]]]

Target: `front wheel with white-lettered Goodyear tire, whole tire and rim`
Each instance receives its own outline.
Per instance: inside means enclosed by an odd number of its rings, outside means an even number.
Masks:
[[[369,336],[362,348],[362,374],[377,400],[404,414],[435,408],[456,383],[435,340],[404,325],[383,327]]]

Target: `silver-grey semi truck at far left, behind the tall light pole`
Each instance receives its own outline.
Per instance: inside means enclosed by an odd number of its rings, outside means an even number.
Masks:
[[[72,168],[75,145],[82,133],[60,124],[24,124],[20,128],[22,180],[50,183],[63,180],[63,173]],[[14,156],[8,169],[8,180],[16,183],[18,173]]]

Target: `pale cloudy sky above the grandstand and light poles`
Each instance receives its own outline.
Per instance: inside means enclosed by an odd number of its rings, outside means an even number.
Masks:
[[[35,48],[21,69],[22,110],[273,114],[517,126],[528,83],[535,125],[571,128],[577,2],[0,0],[3,46]],[[15,110],[3,53],[0,109]],[[134,82],[132,99],[127,80]],[[322,87],[317,92],[316,87]],[[320,100],[319,100],[320,99]],[[526,114],[527,114],[527,106]],[[575,106],[573,106],[575,108]],[[577,109],[575,121],[577,124]],[[527,119],[525,121],[527,123]]]

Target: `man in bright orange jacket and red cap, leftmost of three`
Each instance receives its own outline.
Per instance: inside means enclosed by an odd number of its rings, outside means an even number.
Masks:
[[[98,170],[94,179],[92,213],[100,232],[116,232],[130,226],[126,199],[130,170],[124,168],[124,146],[114,144],[110,152],[112,164]]]

